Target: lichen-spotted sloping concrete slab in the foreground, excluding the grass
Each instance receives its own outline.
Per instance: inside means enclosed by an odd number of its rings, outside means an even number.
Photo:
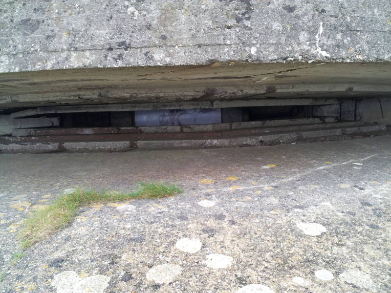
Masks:
[[[2,154],[0,292],[389,293],[390,145]],[[184,193],[80,209],[7,266],[29,210],[149,180]]]

